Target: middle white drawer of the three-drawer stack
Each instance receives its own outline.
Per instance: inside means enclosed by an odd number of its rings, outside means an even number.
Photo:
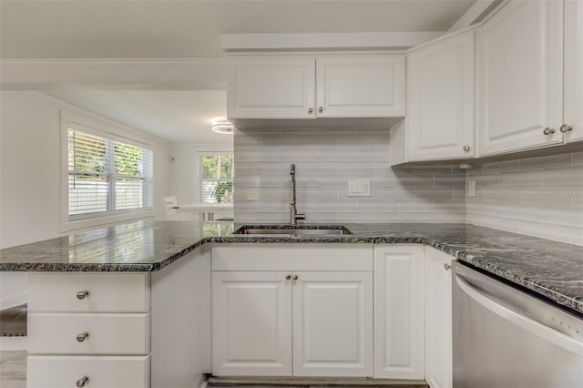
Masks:
[[[87,332],[83,341],[77,335]],[[149,312],[28,314],[29,354],[148,354]]]

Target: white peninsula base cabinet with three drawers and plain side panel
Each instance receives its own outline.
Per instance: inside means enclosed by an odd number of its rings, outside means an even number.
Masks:
[[[31,272],[28,388],[184,388],[210,373],[210,250],[153,272]]]

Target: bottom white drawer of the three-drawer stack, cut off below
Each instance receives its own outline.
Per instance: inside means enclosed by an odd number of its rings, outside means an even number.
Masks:
[[[87,388],[148,388],[147,356],[28,356],[26,386],[63,388],[83,386],[77,381],[87,376]]]

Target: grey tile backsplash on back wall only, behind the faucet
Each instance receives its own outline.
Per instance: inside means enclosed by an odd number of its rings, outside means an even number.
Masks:
[[[454,199],[453,190],[464,191],[465,175],[443,166],[390,168],[388,129],[238,129],[234,149],[235,217],[243,222],[288,221],[291,163],[308,222],[463,219],[463,196]],[[370,197],[348,197],[348,181],[356,179],[370,181]],[[442,202],[452,207],[433,214]]]

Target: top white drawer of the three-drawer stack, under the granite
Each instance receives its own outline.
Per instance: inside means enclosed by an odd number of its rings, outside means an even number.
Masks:
[[[30,272],[28,311],[148,312],[149,274]]]

